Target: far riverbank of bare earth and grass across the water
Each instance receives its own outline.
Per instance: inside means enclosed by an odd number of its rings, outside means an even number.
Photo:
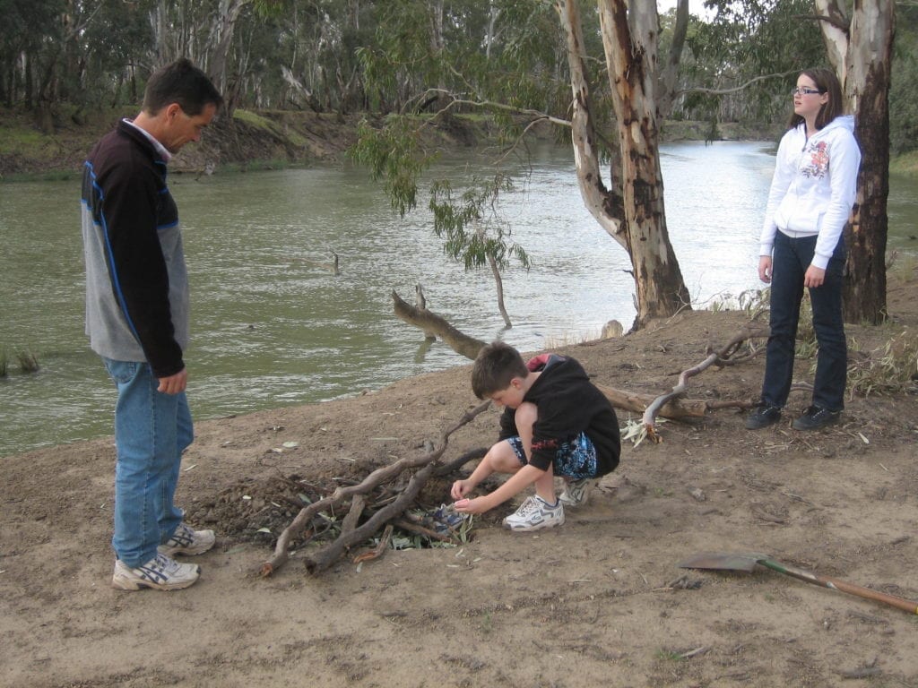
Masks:
[[[0,108],[0,181],[71,178],[79,174],[86,153],[120,117],[133,117],[136,108],[62,113],[55,131],[39,132],[25,112]],[[193,174],[247,172],[340,160],[356,140],[362,114],[340,116],[287,110],[236,110],[232,121],[220,120],[207,129],[201,143],[186,146],[171,164],[173,172]],[[372,121],[371,117],[371,121]],[[707,122],[667,122],[666,140],[704,140]],[[564,132],[545,126],[535,136],[551,139]],[[473,148],[495,139],[496,131],[482,117],[448,117],[432,122],[427,143],[446,148]],[[724,140],[777,140],[778,131],[719,125]]]

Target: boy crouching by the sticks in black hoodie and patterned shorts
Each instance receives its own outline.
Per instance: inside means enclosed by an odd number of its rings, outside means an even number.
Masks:
[[[535,494],[504,519],[504,526],[521,531],[561,526],[564,507],[585,504],[590,481],[619,465],[618,419],[574,359],[542,354],[527,364],[519,351],[496,341],[478,353],[472,391],[505,408],[498,443],[471,476],[453,483],[456,511],[481,514],[534,484]],[[491,494],[469,499],[493,472],[512,475]],[[566,483],[558,498],[555,475]]]

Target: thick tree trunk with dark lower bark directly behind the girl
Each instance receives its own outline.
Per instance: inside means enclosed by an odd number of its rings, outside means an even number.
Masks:
[[[857,199],[845,232],[845,321],[879,324],[886,316],[886,203],[890,194],[890,64],[895,6],[856,0],[850,19],[839,0],[814,0],[829,62],[856,114],[861,149]]]

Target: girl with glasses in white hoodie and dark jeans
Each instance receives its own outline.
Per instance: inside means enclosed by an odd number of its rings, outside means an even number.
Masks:
[[[794,113],[778,146],[760,240],[758,276],[771,284],[771,334],[761,400],[746,419],[751,430],[777,423],[787,403],[803,287],[810,290],[819,354],[812,404],[792,427],[812,430],[836,423],[844,407],[842,231],[855,202],[860,150],[854,117],[842,114],[834,72],[801,72],[792,94]]]

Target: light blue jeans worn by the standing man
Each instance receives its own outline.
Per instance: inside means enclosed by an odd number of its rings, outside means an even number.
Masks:
[[[185,393],[157,392],[150,365],[103,357],[118,385],[115,408],[115,537],[118,559],[140,566],[184,516],[173,504],[182,452],[194,438]]]

